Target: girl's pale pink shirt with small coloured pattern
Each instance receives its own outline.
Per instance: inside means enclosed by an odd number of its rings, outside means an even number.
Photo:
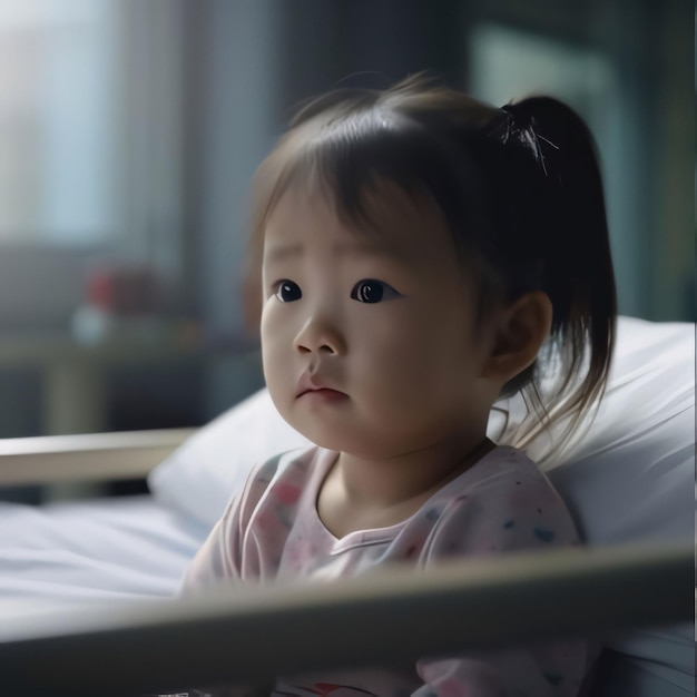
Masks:
[[[579,543],[571,517],[547,478],[523,453],[507,446],[495,448],[444,484],[406,520],[337,539],[316,509],[322,482],[336,457],[311,448],[284,453],[255,469],[192,562],[185,590],[222,579],[331,581],[393,562],[425,569],[449,558]],[[588,642],[565,640],[424,659],[401,671],[283,678],[272,694],[573,697],[588,664]]]

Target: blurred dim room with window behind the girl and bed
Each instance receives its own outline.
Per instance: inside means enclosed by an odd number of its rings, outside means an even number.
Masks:
[[[429,69],[600,146],[620,312],[695,320],[687,0],[0,0],[0,438],[203,424],[263,384],[249,178],[301,99]]]

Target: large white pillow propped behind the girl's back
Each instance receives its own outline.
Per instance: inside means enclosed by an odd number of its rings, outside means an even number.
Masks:
[[[490,435],[514,443],[530,416],[520,399],[498,406],[508,413],[492,412]],[[200,429],[148,482],[157,499],[213,526],[256,462],[307,443],[262,390]],[[608,390],[589,431],[562,457],[549,454],[543,435],[526,450],[588,543],[694,541],[694,325],[620,317]],[[595,694],[694,695],[693,631],[684,625],[608,638],[617,654]]]

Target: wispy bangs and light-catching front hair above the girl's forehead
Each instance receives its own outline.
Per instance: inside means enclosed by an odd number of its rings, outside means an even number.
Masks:
[[[288,189],[321,195],[342,224],[359,233],[379,230],[375,200],[435,206],[459,248],[468,230],[481,229],[481,176],[438,131],[409,117],[371,109],[322,115],[296,126],[259,168],[257,235]],[[376,196],[379,194],[379,196]],[[399,196],[404,198],[397,200]]]

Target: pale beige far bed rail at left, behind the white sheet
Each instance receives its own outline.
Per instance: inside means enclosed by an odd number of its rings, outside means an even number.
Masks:
[[[195,429],[0,440],[0,487],[145,477]]]

